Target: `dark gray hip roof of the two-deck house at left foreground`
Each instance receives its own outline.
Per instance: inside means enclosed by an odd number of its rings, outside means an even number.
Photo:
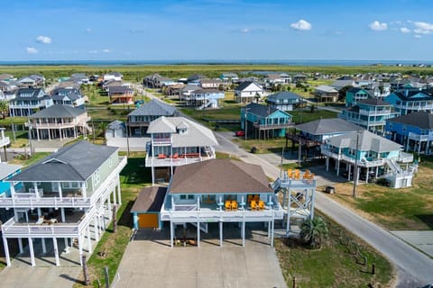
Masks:
[[[9,181],[85,181],[98,167],[116,153],[118,148],[79,141],[60,148],[57,153],[29,166]]]

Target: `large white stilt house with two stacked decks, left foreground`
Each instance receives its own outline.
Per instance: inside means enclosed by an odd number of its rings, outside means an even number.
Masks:
[[[82,265],[85,249],[92,252],[91,238],[98,240],[106,229],[112,204],[121,204],[119,174],[126,157],[117,152],[118,148],[80,141],[7,179],[11,196],[0,198],[0,209],[14,209],[14,217],[2,225],[7,266],[11,266],[10,238],[18,238],[21,253],[23,238],[27,239],[32,266],[36,238],[41,238],[42,253],[50,253],[47,244],[52,243],[57,266],[58,241],[64,241],[65,252],[77,246]]]

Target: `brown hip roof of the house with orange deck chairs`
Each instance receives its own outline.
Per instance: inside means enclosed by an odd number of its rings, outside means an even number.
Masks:
[[[213,159],[178,166],[169,193],[269,193],[262,166]]]

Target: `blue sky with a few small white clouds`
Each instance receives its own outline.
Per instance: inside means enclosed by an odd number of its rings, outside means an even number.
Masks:
[[[431,0],[0,0],[0,60],[432,60]]]

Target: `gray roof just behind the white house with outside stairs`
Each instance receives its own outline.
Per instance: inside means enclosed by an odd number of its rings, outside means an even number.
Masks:
[[[319,119],[295,126],[296,129],[308,132],[312,135],[333,134],[338,132],[352,132],[364,130],[364,128],[351,122],[338,118]]]

